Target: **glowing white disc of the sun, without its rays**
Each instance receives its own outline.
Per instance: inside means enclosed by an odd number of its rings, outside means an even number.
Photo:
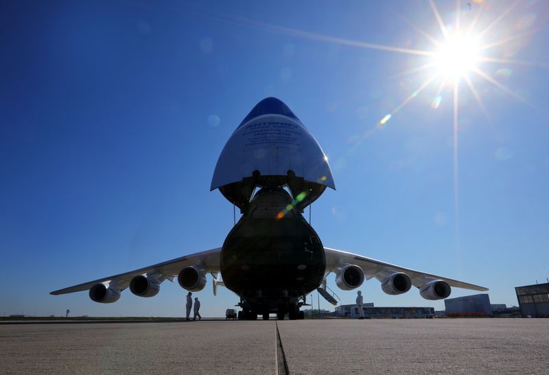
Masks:
[[[478,41],[456,32],[441,44],[434,55],[434,65],[447,78],[458,79],[475,69],[479,58]]]

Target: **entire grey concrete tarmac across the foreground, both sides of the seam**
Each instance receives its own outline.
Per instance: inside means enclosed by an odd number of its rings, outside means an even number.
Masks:
[[[547,374],[549,319],[0,326],[1,374]],[[280,352],[280,351],[279,351]]]

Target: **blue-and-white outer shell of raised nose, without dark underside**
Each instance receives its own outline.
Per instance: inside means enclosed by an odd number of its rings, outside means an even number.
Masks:
[[[253,177],[295,177],[335,190],[320,145],[301,121],[277,98],[261,100],[225,144],[210,190]],[[255,172],[257,174],[257,172]]]

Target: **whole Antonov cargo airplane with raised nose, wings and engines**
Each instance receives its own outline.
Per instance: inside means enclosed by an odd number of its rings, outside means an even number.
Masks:
[[[222,247],[119,275],[51,292],[89,291],[95,302],[110,304],[121,291],[140,297],[159,293],[166,279],[187,291],[201,291],[212,276],[213,294],[225,286],[240,297],[239,319],[303,319],[306,296],[326,292],[326,277],[336,275],[344,291],[375,278],[389,295],[419,288],[425,299],[444,299],[451,287],[487,291],[447,277],[406,269],[363,255],[324,247],[303,217],[307,205],[326,188],[336,188],[322,148],[288,106],[277,98],[261,100],[224,146],[213,172],[211,190],[240,209],[242,216]],[[219,278],[221,275],[221,279]]]

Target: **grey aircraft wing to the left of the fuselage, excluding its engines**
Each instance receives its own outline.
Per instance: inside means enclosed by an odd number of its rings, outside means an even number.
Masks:
[[[152,266],[144,267],[142,269],[136,269],[126,273],[120,273],[119,275],[113,275],[109,277],[103,277],[102,279],[93,280],[91,282],[84,282],[75,286],[69,286],[69,288],[63,288],[58,291],[53,291],[49,294],[60,295],[65,293],[74,293],[80,291],[87,291],[96,284],[108,284],[115,285],[120,291],[128,288],[133,277],[138,275],[154,275],[159,280],[173,280],[178,273],[187,266],[195,266],[200,271],[207,273],[217,273],[220,271],[220,257],[221,248],[202,251],[200,253],[194,253],[191,255],[185,255],[181,258],[168,260],[167,262],[154,264]],[[215,278],[215,277],[214,277]],[[214,280],[215,282],[215,280]]]

